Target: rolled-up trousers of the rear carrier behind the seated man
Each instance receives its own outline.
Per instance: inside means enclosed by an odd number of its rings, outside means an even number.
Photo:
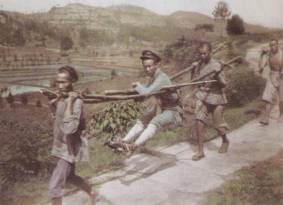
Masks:
[[[209,113],[212,115],[213,127],[217,133],[220,136],[226,134],[226,130],[230,130],[230,127],[227,125],[223,117],[222,106],[205,103],[198,99],[195,108],[196,120],[200,120],[206,124]]]

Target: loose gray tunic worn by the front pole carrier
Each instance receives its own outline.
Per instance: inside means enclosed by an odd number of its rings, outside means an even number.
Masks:
[[[88,143],[83,113],[83,101],[76,99],[71,116],[63,118],[67,100],[59,100],[54,123],[54,140],[51,154],[68,162],[88,160]]]

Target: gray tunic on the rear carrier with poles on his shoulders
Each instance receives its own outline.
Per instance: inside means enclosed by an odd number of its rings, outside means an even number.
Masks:
[[[196,76],[202,76],[209,73],[217,66],[220,66],[220,63],[211,59],[206,65],[203,63],[196,68]],[[204,84],[204,86],[200,86],[196,94],[198,99],[212,105],[223,105],[227,103],[226,96],[222,90],[222,88],[227,85],[223,71],[218,75],[211,74],[202,80],[217,80],[217,82],[207,83]]]

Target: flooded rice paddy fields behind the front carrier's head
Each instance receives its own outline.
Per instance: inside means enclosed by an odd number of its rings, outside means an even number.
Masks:
[[[54,86],[54,77],[57,70],[63,65],[25,66],[21,68],[2,69],[0,71],[0,87],[7,86],[8,91],[2,96],[24,92],[36,92],[39,88]],[[79,83],[102,81],[111,78],[111,70],[95,69],[88,66],[70,65],[79,74]],[[131,76],[134,73],[116,71],[114,77]]]

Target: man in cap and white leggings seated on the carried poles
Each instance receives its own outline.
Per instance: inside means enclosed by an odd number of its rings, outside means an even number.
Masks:
[[[161,61],[158,55],[144,50],[140,59],[142,59],[143,70],[147,78],[145,86],[139,82],[133,83],[134,91],[139,94],[152,93],[161,90],[164,86],[172,85],[169,77],[157,68]],[[183,111],[177,92],[165,93],[159,96],[156,102],[157,105],[144,113],[120,142],[108,141],[106,144],[114,149],[120,147],[116,151],[130,156],[137,147],[152,139],[160,128],[170,124],[178,126],[182,123]],[[136,138],[137,140],[132,143]]]

